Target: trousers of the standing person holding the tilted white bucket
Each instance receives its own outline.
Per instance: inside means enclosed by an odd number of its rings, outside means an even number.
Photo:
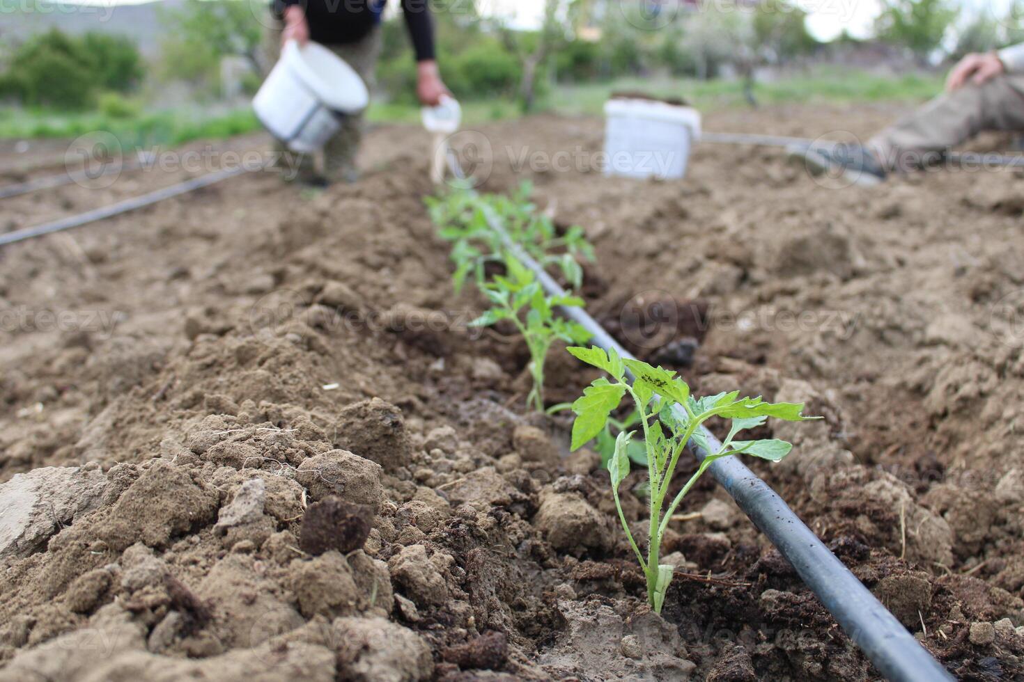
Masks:
[[[281,56],[281,33],[284,30],[284,25],[281,21],[271,20],[268,24],[263,44],[263,67],[266,73],[269,73],[273,64],[278,62],[278,57]],[[367,88],[373,92],[377,59],[380,56],[381,48],[379,28],[371,31],[366,38],[358,42],[344,45],[325,45],[324,47],[337,54],[355,70],[355,73],[367,84]],[[296,154],[281,142],[275,142],[274,150],[290,156],[281,165],[285,168],[297,168],[296,179],[300,181],[351,182],[358,177],[355,156],[359,151],[359,142],[362,139],[364,123],[361,112],[345,117],[341,124],[341,130],[328,140],[322,150],[315,153]]]

